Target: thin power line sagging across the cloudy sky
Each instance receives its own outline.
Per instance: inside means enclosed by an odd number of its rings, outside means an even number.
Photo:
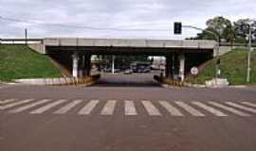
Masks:
[[[50,24],[50,23],[42,23],[38,21],[32,20],[23,20],[23,19],[15,19],[9,17],[0,16],[0,20],[16,22],[16,23],[27,23],[31,25],[52,25],[52,26],[61,26],[66,28],[85,28],[91,30],[113,30],[113,31],[168,31],[168,29],[158,29],[158,28],[116,28],[116,27],[95,27],[89,25],[64,25],[64,24]]]

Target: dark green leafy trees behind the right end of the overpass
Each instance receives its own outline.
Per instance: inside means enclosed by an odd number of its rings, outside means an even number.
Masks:
[[[244,43],[247,45],[249,25],[251,28],[251,40],[256,43],[256,20],[239,19],[231,22],[223,16],[217,16],[206,22],[207,27],[197,36],[187,40],[216,40],[214,35],[207,31],[215,33],[221,42]]]

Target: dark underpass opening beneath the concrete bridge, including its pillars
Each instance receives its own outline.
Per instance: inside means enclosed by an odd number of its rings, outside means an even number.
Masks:
[[[213,58],[213,49],[47,46],[46,50],[68,73],[65,76],[101,74],[96,86],[158,86],[155,75],[184,80],[193,66]],[[117,61],[114,74],[113,60]],[[148,62],[150,72],[124,74],[126,70],[133,70],[131,65],[137,61]]]

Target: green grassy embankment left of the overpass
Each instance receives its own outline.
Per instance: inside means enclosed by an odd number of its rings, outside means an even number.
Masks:
[[[60,76],[47,56],[33,52],[26,45],[0,44],[0,81]]]

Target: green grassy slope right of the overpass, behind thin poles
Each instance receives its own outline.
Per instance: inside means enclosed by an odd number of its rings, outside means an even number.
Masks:
[[[256,84],[256,51],[251,54],[251,78],[250,83],[247,83],[247,50],[236,49],[230,51],[224,56],[220,57],[221,77],[229,79],[230,84]],[[204,83],[215,75],[216,59],[211,59],[202,73],[200,73],[196,80],[198,83]]]

